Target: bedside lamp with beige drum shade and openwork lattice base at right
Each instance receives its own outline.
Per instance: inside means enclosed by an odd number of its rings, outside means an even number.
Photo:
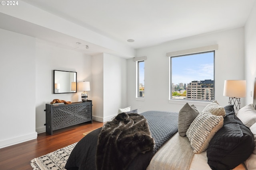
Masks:
[[[246,80],[225,80],[223,96],[229,97],[229,105],[234,105],[235,113],[240,109],[240,98],[246,97]]]

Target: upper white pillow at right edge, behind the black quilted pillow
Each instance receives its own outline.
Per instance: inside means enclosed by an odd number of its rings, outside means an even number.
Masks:
[[[251,127],[256,122],[256,109],[253,104],[248,104],[238,110],[236,116],[244,123],[244,125]]]

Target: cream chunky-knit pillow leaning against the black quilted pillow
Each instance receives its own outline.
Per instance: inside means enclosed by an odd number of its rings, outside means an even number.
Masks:
[[[208,111],[200,113],[186,132],[193,152],[201,153],[206,150],[210,140],[222,125],[222,116],[213,115]]]

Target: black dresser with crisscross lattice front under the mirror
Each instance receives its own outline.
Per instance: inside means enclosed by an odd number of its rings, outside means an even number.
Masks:
[[[72,104],[46,104],[46,133],[52,135],[54,130],[77,125],[92,123],[92,100],[74,102]]]

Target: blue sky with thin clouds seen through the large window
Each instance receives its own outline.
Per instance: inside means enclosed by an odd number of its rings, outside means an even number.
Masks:
[[[214,53],[172,57],[172,83],[214,80]]]

